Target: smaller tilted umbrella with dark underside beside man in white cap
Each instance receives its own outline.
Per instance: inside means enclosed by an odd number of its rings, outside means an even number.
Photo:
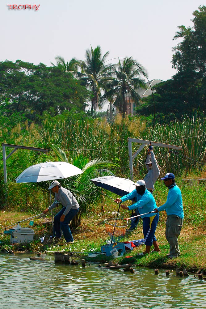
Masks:
[[[103,176],[91,179],[91,181],[96,186],[120,196],[126,195],[135,189],[135,183],[132,180],[116,176]]]

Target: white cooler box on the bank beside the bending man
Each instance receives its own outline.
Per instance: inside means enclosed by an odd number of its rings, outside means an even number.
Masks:
[[[30,243],[34,239],[34,230],[27,227],[19,227],[12,231],[11,243]]]

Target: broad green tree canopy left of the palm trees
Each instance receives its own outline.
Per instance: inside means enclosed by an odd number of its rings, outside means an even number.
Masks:
[[[61,66],[17,60],[0,62],[0,113],[11,116],[21,113],[38,122],[44,112],[53,116],[64,110],[80,112],[89,99],[89,92]]]

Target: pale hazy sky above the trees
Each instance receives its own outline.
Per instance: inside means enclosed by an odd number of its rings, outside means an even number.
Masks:
[[[85,59],[85,51],[100,45],[108,63],[132,56],[149,80],[170,79],[173,41],[179,25],[192,26],[200,0],[27,0],[0,1],[0,61],[6,59],[47,66],[60,55]],[[39,9],[9,9],[13,4]],[[20,6],[22,7],[22,6]]]

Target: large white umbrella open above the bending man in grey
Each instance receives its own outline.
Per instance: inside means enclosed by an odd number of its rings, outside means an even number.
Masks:
[[[54,179],[68,178],[82,174],[82,170],[70,163],[44,162],[27,167],[17,178],[16,182],[40,182]]]

